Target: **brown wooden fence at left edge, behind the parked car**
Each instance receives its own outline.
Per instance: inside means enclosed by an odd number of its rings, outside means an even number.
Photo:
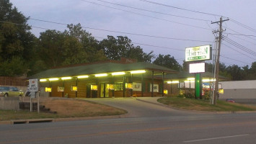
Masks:
[[[0,85],[4,86],[27,86],[25,78],[0,76]]]

